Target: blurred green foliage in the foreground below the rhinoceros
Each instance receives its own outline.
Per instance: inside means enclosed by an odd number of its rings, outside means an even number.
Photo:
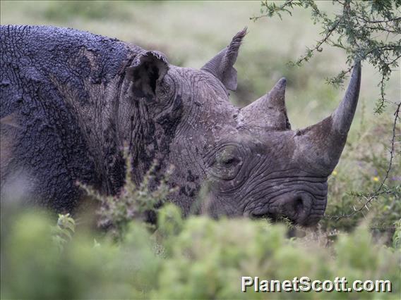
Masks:
[[[401,251],[373,242],[364,226],[324,246],[323,235],[309,232],[288,239],[285,225],[265,220],[183,220],[172,204],[158,215],[155,233],[133,221],[119,242],[109,233],[74,225],[62,251],[58,240],[52,240],[60,231],[46,215],[8,218],[7,235],[1,235],[1,299],[399,299]],[[63,229],[65,223],[56,227]],[[395,244],[398,240],[395,236]],[[244,294],[241,276],[391,280],[393,292],[273,294],[249,289]]]

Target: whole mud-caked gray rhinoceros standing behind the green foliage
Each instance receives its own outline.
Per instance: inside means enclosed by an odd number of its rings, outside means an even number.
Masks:
[[[284,78],[245,108],[229,102],[245,35],[195,70],[88,32],[1,26],[1,193],[23,177],[32,201],[74,211],[77,180],[119,192],[128,144],[137,183],[154,159],[158,175],[175,166],[170,201],[185,215],[315,224],[357,107],[360,65],[332,115],[291,130]]]

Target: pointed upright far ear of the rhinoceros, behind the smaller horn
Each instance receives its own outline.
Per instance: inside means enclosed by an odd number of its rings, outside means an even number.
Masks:
[[[239,46],[241,46],[245,35],[246,27],[232,38],[229,46],[222,49],[222,51],[200,69],[212,73],[225,85],[226,89],[231,89],[232,91],[237,89],[237,70],[235,70],[233,65],[237,61]]]

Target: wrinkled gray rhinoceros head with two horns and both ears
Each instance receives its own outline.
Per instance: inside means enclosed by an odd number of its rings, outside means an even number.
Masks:
[[[332,115],[292,130],[285,78],[249,106],[229,102],[227,91],[237,87],[233,65],[245,35],[246,30],[235,35],[200,70],[169,65],[158,52],[136,58],[128,75],[133,95],[142,101],[139,111],[152,124],[152,137],[141,150],[145,154],[136,156],[175,166],[171,182],[179,190],[171,201],[186,214],[285,215],[313,225],[325,211],[328,175],[357,107],[360,65]]]

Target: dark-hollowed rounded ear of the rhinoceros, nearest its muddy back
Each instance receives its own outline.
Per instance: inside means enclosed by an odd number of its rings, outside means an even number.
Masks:
[[[158,51],[147,51],[139,54],[126,69],[128,80],[132,81],[135,96],[155,99],[156,87],[169,70],[164,54]]]

